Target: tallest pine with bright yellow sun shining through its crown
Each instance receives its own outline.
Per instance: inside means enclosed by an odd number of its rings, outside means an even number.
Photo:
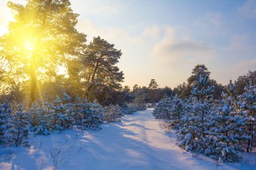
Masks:
[[[32,105],[39,83],[47,77],[54,81],[58,66],[84,49],[86,36],[75,29],[78,15],[68,0],[28,0],[26,5],[7,5],[14,21],[9,23],[9,32],[1,36],[0,53],[16,81],[30,78]]]

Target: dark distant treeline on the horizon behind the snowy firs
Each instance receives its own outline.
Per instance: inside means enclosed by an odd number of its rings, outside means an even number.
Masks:
[[[152,79],[148,85],[148,87],[143,86],[139,87],[138,85],[133,86],[133,90],[130,90],[129,87],[125,87],[125,91],[131,91],[131,97],[136,98],[135,101],[139,103],[157,103],[161,99],[166,97],[172,97],[177,95],[181,99],[186,99],[191,96],[191,87],[196,85],[196,73],[199,73],[199,69],[203,68],[204,72],[208,75],[208,85],[214,86],[213,97],[214,99],[222,99],[222,91],[226,91],[226,87],[220,83],[217,83],[216,80],[210,78],[210,71],[208,71],[205,65],[196,65],[193,69],[191,76],[187,79],[187,83],[183,83],[171,89],[170,87],[160,88],[155,79]],[[236,81],[234,81],[234,85],[236,86],[236,91],[234,91],[234,95],[242,95],[245,92],[244,87],[251,83],[256,84],[256,71],[249,71],[247,75],[243,75],[238,77]]]

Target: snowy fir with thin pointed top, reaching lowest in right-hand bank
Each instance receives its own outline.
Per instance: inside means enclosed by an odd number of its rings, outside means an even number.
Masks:
[[[230,81],[226,87],[228,94],[222,92],[222,105],[210,119],[210,144],[205,154],[219,161],[238,161],[241,159],[238,151],[243,150],[239,141],[244,137],[240,134],[243,134],[242,126],[246,120],[236,114],[236,104],[232,96],[234,89]]]

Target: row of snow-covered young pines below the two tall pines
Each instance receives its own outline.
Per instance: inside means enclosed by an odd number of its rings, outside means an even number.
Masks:
[[[103,121],[102,106],[88,99],[82,101],[78,97],[71,103],[71,97],[66,93],[59,96],[53,103],[33,103],[30,108],[30,124],[35,134],[50,134],[51,130],[65,130],[69,126],[80,128],[98,128]]]

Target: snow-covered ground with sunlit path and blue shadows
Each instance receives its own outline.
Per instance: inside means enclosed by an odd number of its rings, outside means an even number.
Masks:
[[[216,164],[175,145],[152,110],[127,115],[102,130],[65,130],[30,136],[30,147],[0,147],[0,169],[256,169],[255,153],[240,163]]]

